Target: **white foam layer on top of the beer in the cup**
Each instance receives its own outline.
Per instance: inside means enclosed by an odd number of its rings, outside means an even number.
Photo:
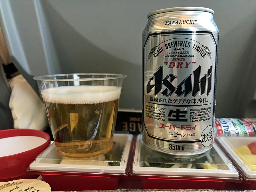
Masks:
[[[44,101],[63,104],[96,104],[120,98],[121,87],[104,85],[60,86],[44,89]]]

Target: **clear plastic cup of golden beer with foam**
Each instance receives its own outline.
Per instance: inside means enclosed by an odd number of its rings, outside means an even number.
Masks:
[[[120,74],[34,77],[61,155],[92,157],[111,150],[124,77]]]

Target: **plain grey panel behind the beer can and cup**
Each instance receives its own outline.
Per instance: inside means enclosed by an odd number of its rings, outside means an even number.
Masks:
[[[120,107],[135,109],[141,108],[141,33],[147,14],[175,6],[211,8],[220,29],[216,116],[243,117],[253,99],[255,0],[10,2],[6,5],[0,0],[0,6],[11,7],[17,31],[11,30],[8,12],[1,13],[6,21],[1,27],[6,33],[19,35],[22,46],[11,50],[16,65],[25,71],[29,68],[31,76],[60,72],[127,74]],[[7,35],[9,45],[15,41]],[[19,59],[22,54],[26,59]]]

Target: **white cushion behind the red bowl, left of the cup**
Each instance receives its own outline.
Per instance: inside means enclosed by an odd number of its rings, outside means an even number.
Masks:
[[[43,101],[22,75],[9,81],[12,89],[9,107],[12,110],[13,127],[44,130],[48,120]]]

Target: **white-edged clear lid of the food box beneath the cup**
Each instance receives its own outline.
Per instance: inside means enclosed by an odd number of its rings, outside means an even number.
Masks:
[[[55,144],[52,143],[36,157],[28,171],[124,175],[128,172],[127,162],[131,143],[131,134],[115,133],[112,150],[104,155],[91,158],[61,156],[57,153]]]

